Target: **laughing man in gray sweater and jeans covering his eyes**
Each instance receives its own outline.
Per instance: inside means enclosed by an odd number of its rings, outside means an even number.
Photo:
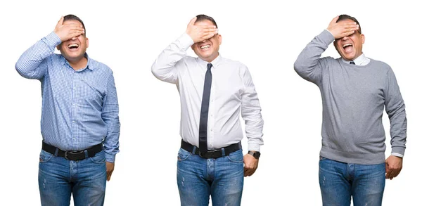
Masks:
[[[321,58],[334,41],[341,58]],[[323,205],[381,205],[385,179],[402,169],[406,111],[392,69],[362,53],[365,36],[350,15],[335,17],[300,53],[295,71],[322,96],[319,186]],[[383,109],[392,153],[385,160]]]

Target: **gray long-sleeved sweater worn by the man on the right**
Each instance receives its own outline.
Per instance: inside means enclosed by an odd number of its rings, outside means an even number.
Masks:
[[[346,64],[341,58],[321,58],[333,41],[333,35],[324,30],[295,62],[300,77],[321,91],[320,155],[362,165],[385,162],[384,106],[390,118],[392,153],[404,155],[406,111],[391,67],[373,59],[359,66]]]

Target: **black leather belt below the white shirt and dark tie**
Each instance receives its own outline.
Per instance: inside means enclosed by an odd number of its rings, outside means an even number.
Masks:
[[[218,157],[223,157],[223,156],[227,156],[230,153],[234,153],[237,150],[240,150],[242,148],[242,144],[241,142],[238,143],[234,143],[232,145],[226,146],[224,148],[219,148],[216,150],[207,150],[207,152],[205,154],[201,154],[199,152],[199,148],[196,146],[191,145],[190,143],[187,143],[186,141],[181,141],[181,146],[182,149],[188,151],[189,153],[195,154],[195,155],[199,155],[200,157],[206,158],[206,159],[210,159],[210,158],[218,158]],[[224,149],[224,154],[223,154],[223,149]]]

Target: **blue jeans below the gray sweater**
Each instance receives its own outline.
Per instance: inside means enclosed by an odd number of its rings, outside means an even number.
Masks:
[[[381,206],[385,163],[357,165],[320,157],[319,187],[324,206]]]

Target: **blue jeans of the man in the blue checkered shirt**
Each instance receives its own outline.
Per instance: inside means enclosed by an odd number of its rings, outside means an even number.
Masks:
[[[75,206],[103,205],[106,194],[104,150],[79,161],[66,160],[41,150],[38,185],[43,206],[68,206],[72,193]]]

